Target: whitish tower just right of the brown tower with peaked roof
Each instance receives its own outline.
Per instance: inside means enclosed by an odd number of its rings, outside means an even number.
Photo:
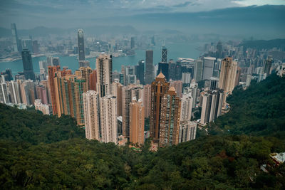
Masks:
[[[180,120],[191,120],[193,99],[191,93],[185,93],[181,99]]]

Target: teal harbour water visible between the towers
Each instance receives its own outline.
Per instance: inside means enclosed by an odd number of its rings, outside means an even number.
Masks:
[[[199,47],[202,46],[201,43],[165,43],[167,47],[167,60],[177,58],[199,58],[201,51]],[[152,46],[153,50],[153,64],[157,64],[161,61],[161,49],[162,46]],[[78,69],[79,64],[76,56],[58,56],[61,62],[61,68],[67,66],[73,72]],[[32,58],[33,71],[39,73],[38,62],[40,60],[46,60],[46,56]],[[88,58],[90,61],[90,67],[95,68],[95,58]],[[120,72],[121,65],[136,65],[139,60],[145,60],[145,50],[136,49],[134,56],[124,56],[113,58],[113,71]],[[18,72],[23,71],[23,62],[21,59],[14,60],[10,62],[0,62],[0,70],[6,70],[7,68],[12,70],[12,74],[15,75]]]

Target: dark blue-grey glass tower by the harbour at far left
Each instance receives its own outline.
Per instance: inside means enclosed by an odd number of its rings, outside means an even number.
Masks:
[[[27,49],[24,49],[22,51],[22,60],[23,60],[24,75],[26,80],[28,79],[35,80],[35,73],[33,73],[33,63],[31,60],[31,53]]]

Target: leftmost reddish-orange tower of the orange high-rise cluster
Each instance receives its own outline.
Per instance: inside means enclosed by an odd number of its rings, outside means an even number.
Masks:
[[[56,88],[54,83],[54,78],[56,77],[56,71],[61,70],[61,67],[58,66],[48,66],[48,85],[51,89],[51,105],[53,108],[53,115],[58,113],[58,109],[56,107]]]

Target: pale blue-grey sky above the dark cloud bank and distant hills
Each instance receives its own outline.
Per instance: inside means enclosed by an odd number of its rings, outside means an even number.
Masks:
[[[0,26],[70,28],[95,25],[95,19],[104,17],[264,4],[285,5],[285,0],[0,0]]]

